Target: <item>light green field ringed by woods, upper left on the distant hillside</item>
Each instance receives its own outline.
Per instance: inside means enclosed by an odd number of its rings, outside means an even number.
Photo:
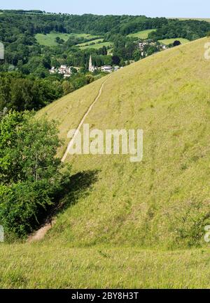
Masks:
[[[85,39],[92,39],[94,37],[97,38],[97,36],[93,36],[92,34],[62,34],[59,32],[51,32],[50,34],[36,34],[36,40],[39,44],[44,46],[57,46],[57,42],[55,41],[55,38],[59,37],[60,39],[64,39],[64,41],[67,41],[70,37],[84,37]]]

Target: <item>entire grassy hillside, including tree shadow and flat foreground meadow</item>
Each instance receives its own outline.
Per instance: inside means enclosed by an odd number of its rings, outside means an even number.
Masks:
[[[209,288],[207,41],[155,54],[107,79],[85,123],[143,129],[143,161],[69,156],[72,182],[43,242],[0,245],[1,287]],[[59,156],[105,79],[38,112],[59,120]]]

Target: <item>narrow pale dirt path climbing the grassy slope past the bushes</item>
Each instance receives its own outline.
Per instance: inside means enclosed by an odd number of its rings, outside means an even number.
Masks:
[[[78,132],[80,131],[80,128],[83,126],[83,123],[85,122],[85,119],[87,117],[87,115],[89,115],[90,111],[92,110],[93,106],[95,103],[97,103],[97,101],[99,100],[100,96],[102,95],[102,91],[104,89],[104,84],[106,83],[106,81],[109,79],[111,75],[109,75],[108,77],[106,77],[106,79],[104,80],[104,82],[102,83],[102,86],[99,89],[99,94],[97,95],[97,97],[94,99],[93,103],[90,105],[90,107],[87,109],[87,112],[85,112],[85,115],[83,115],[82,120],[80,121],[80,123],[78,124],[78,127],[73,135],[73,137],[71,138],[71,141],[69,142],[66,151],[64,153],[64,156],[62,157],[62,162],[65,162],[67,155],[69,154],[69,150],[71,149],[71,147],[73,146],[74,140],[76,138],[76,136],[78,135]],[[45,234],[52,228],[52,226],[55,224],[55,219],[52,219],[52,221],[50,223],[45,224],[44,226],[42,226],[41,228],[38,229],[38,231],[36,231],[36,233],[34,233],[34,235],[29,236],[28,238],[28,242],[34,242],[34,241],[38,241],[38,240],[42,240],[45,236]]]

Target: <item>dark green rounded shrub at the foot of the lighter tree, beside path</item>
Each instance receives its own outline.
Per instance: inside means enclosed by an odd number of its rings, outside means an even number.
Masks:
[[[26,236],[42,219],[52,204],[53,185],[48,180],[14,183],[1,196],[1,225],[15,236]]]

